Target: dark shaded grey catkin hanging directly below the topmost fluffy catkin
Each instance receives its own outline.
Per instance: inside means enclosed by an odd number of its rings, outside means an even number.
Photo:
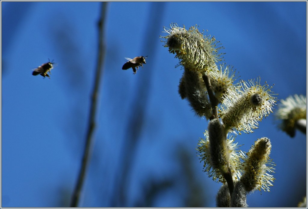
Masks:
[[[186,97],[190,106],[193,107],[193,110],[195,110],[198,116],[205,116],[209,119],[212,115],[212,108],[204,89],[200,85],[199,72],[194,72],[185,68],[182,78],[182,82],[183,81],[185,83]]]

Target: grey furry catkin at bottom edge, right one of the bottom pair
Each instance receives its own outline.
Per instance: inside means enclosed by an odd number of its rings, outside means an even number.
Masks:
[[[234,190],[231,196],[231,207],[248,207],[247,192],[241,181],[237,181],[234,184]]]

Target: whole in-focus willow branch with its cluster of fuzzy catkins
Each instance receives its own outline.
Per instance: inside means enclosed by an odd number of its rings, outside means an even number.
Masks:
[[[204,31],[204,30],[203,30]],[[248,207],[246,195],[254,190],[269,191],[273,186],[275,165],[269,158],[271,143],[266,137],[255,141],[246,154],[235,142],[236,132],[252,133],[258,123],[274,110],[277,98],[261,79],[235,83],[233,67],[222,60],[223,48],[210,35],[200,33],[197,25],[188,30],[171,24],[164,47],[176,54],[184,73],[179,94],[187,99],[197,116],[209,120],[205,138],[200,138],[197,151],[204,172],[223,183],[217,193],[218,207]],[[219,44],[220,45],[220,44]]]

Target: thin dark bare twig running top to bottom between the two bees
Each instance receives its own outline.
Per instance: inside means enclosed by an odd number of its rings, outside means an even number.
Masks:
[[[95,83],[93,88],[93,93],[91,97],[91,107],[90,107],[90,118],[87,130],[86,137],[86,145],[84,148],[83,158],[81,161],[81,168],[78,176],[78,180],[76,183],[76,187],[71,199],[71,207],[78,207],[81,189],[83,186],[83,182],[85,179],[85,174],[88,166],[88,161],[91,154],[91,145],[93,144],[92,135],[95,129],[95,115],[96,115],[96,106],[97,106],[97,97],[99,95],[99,84],[101,80],[101,74],[103,72],[103,61],[105,57],[105,45],[103,43],[104,40],[104,23],[106,17],[107,10],[107,2],[102,2],[101,7],[101,17],[98,23],[99,28],[99,45],[98,45],[98,56],[97,56],[97,66],[96,66],[96,75],[95,75]]]

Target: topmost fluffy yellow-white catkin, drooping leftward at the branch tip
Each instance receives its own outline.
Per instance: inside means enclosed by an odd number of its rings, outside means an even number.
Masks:
[[[170,53],[176,53],[176,57],[181,60],[181,64],[194,71],[209,71],[221,60],[221,54],[217,47],[219,43],[210,35],[204,36],[200,33],[197,26],[192,26],[188,30],[179,27],[177,24],[170,24],[170,29],[164,27],[167,36],[165,47],[169,48]]]

